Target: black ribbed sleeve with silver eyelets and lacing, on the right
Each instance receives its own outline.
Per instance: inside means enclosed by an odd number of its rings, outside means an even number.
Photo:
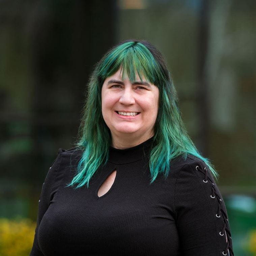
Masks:
[[[174,200],[182,255],[234,255],[225,203],[203,161],[181,168]]]

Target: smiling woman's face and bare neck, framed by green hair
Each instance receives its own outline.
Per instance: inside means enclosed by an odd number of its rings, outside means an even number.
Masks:
[[[121,71],[119,68],[103,83],[102,115],[110,129],[112,146],[124,149],[154,135],[159,89],[150,82],[138,82],[138,74],[134,83],[127,76],[121,80]]]

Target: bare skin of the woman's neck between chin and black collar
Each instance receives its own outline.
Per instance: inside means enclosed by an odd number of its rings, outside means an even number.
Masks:
[[[111,137],[112,137],[111,146],[113,148],[125,149],[125,148],[135,147],[143,143],[144,141],[153,137],[153,134],[145,134],[139,137],[135,137],[131,134],[125,134],[122,136],[116,136],[116,135],[113,136],[113,134],[111,134]]]

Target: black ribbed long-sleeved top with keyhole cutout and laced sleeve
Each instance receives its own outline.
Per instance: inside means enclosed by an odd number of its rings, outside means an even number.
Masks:
[[[205,163],[177,157],[169,176],[150,184],[152,139],[110,147],[89,188],[76,190],[65,186],[82,151],[59,149],[42,186],[30,255],[233,256],[226,207]],[[112,187],[98,197],[114,170]]]

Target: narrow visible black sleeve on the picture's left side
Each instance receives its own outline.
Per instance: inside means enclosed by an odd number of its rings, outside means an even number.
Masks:
[[[38,245],[37,230],[42,220],[42,217],[44,216],[45,212],[49,207],[51,198],[53,197],[53,187],[56,183],[57,173],[59,171],[60,164],[61,164],[61,154],[64,151],[65,150],[62,148],[58,150],[57,158],[53,161],[51,167],[48,170],[45,181],[42,184],[41,194],[38,201],[38,214],[37,214],[37,221],[36,221],[35,236],[34,236],[33,247],[30,252],[30,256],[44,256],[44,254],[42,254]]]

